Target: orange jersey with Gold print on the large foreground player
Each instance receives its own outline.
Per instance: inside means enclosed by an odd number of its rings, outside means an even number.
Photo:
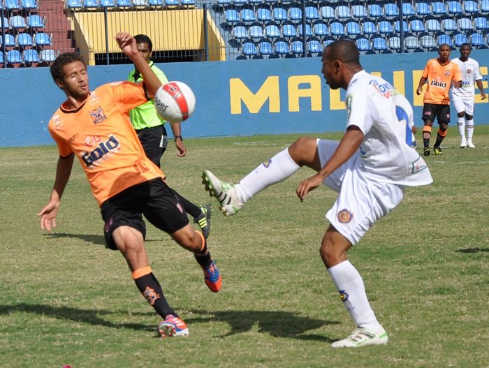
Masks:
[[[145,102],[143,84],[115,82],[92,91],[75,110],[63,103],[50,119],[60,156],[78,157],[98,205],[129,186],[164,176],[147,159],[129,121],[129,110]]]

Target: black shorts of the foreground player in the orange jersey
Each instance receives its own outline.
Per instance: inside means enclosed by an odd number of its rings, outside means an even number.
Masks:
[[[146,237],[142,214],[156,228],[169,234],[189,223],[183,205],[161,178],[131,186],[105,200],[101,206],[101,214],[105,222],[105,246],[114,250],[117,250],[117,246],[112,233],[119,226],[135,228],[143,234],[143,238]]]

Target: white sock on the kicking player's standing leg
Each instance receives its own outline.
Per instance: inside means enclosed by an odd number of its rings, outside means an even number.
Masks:
[[[362,277],[356,268],[349,260],[344,260],[342,263],[330,267],[328,272],[337,290],[340,291],[343,304],[355,324],[358,327],[377,330],[379,322],[370,307]]]

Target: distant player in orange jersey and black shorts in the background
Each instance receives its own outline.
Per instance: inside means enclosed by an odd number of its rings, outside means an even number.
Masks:
[[[450,60],[450,46],[444,43],[439,46],[437,59],[430,59],[426,63],[425,70],[419,80],[416,94],[418,96],[423,91],[423,85],[428,81],[425,96],[423,98],[423,153],[430,155],[430,138],[433,122],[438,120],[437,141],[433,146],[435,154],[442,154],[441,142],[446,136],[448,123],[450,122],[450,98],[448,92],[453,87],[460,88],[462,85],[462,75],[453,61]]]

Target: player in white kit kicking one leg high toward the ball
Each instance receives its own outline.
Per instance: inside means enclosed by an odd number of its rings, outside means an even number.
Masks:
[[[404,186],[430,184],[425,161],[407,143],[412,108],[382,78],[363,71],[351,41],[336,41],[323,51],[322,73],[332,89],[346,89],[348,121],[340,142],[299,138],[251,171],[240,184],[221,182],[203,173],[206,189],[226,215],[235,214],[259,191],[291,176],[302,165],[317,171],[300,182],[301,202],[321,184],[337,191],[326,214],[330,226],[321,242],[321,258],[341,300],[356,324],[353,333],[333,348],[387,344],[388,335],[370,307],[363,279],[346,259],[377,219],[386,216],[404,196]]]

